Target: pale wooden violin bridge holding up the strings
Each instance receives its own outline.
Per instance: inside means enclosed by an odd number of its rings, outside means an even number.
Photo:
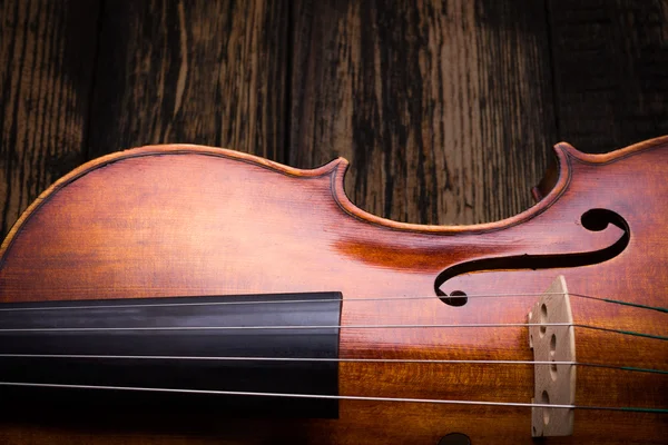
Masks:
[[[548,326],[568,323],[568,326]],[[576,400],[576,336],[573,315],[566,287],[559,276],[529,313],[529,346],[534,362],[571,362],[571,364],[534,364],[534,394],[531,403],[573,405]],[[540,326],[543,325],[543,326]],[[573,408],[531,408],[531,435],[569,436],[573,433]]]

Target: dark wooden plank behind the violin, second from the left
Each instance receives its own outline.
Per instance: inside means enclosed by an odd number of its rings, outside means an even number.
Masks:
[[[286,1],[108,1],[90,157],[165,142],[283,160]]]

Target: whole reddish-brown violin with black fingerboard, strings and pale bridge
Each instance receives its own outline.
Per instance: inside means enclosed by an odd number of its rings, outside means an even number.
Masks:
[[[342,158],[89,161],[0,249],[0,442],[667,443],[668,137],[553,154],[454,227],[355,207]]]

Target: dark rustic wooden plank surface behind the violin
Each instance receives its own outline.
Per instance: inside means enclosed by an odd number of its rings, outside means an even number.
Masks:
[[[55,179],[146,144],[336,156],[400,221],[532,205],[560,140],[668,134],[668,0],[0,0],[0,235]]]

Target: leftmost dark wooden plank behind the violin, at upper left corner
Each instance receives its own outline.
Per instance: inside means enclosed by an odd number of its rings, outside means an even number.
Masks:
[[[0,238],[84,160],[98,7],[0,2]]]

